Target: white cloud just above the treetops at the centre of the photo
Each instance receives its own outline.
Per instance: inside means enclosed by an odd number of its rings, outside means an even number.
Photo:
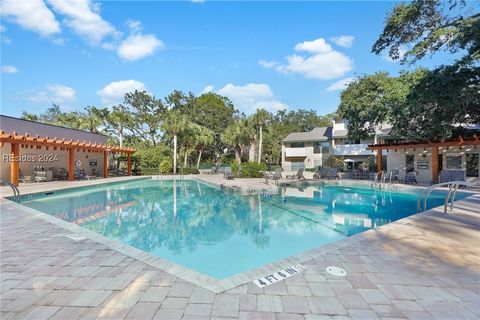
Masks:
[[[254,113],[259,108],[269,111],[283,110],[287,105],[280,102],[273,94],[268,84],[249,83],[244,86],[227,84],[217,91],[218,94],[232,100],[235,107],[247,114]]]

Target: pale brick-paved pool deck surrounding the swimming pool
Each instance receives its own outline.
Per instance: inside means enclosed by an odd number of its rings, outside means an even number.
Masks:
[[[452,213],[436,208],[337,241],[284,281],[263,289],[248,282],[218,294],[95,237],[75,241],[61,223],[24,208],[0,199],[2,320],[480,319],[478,193],[457,201]],[[327,266],[348,274],[329,275]]]

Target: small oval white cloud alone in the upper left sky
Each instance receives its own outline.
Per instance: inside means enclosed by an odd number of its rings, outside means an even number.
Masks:
[[[153,34],[135,34],[125,39],[117,49],[118,55],[128,61],[135,61],[155,53],[163,42]]]

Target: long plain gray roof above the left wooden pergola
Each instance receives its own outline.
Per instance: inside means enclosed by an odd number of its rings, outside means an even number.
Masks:
[[[30,136],[57,137],[59,139],[80,140],[98,144],[106,144],[107,136],[83,130],[70,129],[51,124],[23,120],[19,118],[0,115],[0,130],[5,133],[16,132],[19,135],[28,133]]]

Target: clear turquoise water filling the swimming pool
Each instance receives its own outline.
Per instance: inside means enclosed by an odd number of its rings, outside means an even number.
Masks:
[[[428,207],[443,199],[432,194]],[[412,215],[416,194],[319,183],[265,198],[141,179],[27,195],[22,204],[222,279]]]

